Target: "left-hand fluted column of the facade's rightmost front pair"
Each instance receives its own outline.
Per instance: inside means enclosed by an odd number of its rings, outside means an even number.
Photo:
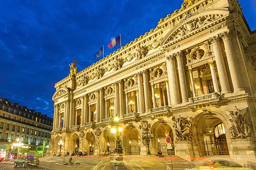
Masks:
[[[224,64],[224,60],[221,52],[219,36],[213,36],[212,38],[210,38],[210,42],[212,44],[213,53],[215,54],[216,65],[217,65],[218,74],[219,74],[220,83],[221,83],[221,89],[222,89],[221,92],[223,94],[230,93],[231,91],[230,91],[227,72],[226,72],[226,68],[225,68],[225,64]]]

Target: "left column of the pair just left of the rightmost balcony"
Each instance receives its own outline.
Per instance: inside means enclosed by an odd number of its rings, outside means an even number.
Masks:
[[[167,56],[167,59],[170,62],[170,81],[172,82],[171,85],[171,90],[173,93],[173,98],[174,102],[172,103],[173,105],[179,104],[180,103],[180,92],[178,88],[178,79],[177,79],[177,73],[176,73],[176,67],[175,67],[175,54]]]

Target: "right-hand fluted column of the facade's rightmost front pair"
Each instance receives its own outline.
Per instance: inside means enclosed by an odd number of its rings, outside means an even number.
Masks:
[[[232,50],[232,44],[230,41],[230,39],[231,39],[230,33],[229,33],[229,31],[225,31],[224,33],[220,34],[220,36],[222,37],[224,47],[226,50],[228,67],[229,67],[229,71],[230,71],[232,84],[234,87],[234,92],[244,90],[242,88],[242,84],[241,84],[241,81],[239,79],[239,75],[238,75],[238,72],[236,69],[237,66],[236,66],[236,62],[235,62],[235,55]]]

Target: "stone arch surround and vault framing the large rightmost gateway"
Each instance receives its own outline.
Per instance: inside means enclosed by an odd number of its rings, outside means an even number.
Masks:
[[[205,139],[208,138],[208,136],[204,134],[210,133],[210,129],[207,130],[207,128],[213,128],[216,124],[220,122],[223,123],[224,125],[229,154],[232,154],[230,152],[231,146],[229,145],[229,143],[231,141],[230,141],[230,134],[228,130],[227,120],[228,120],[228,115],[222,115],[217,112],[209,112],[209,114],[203,114],[201,112],[194,117],[192,121],[193,143],[198,145],[199,156],[203,156],[206,154],[204,143],[205,143]],[[208,140],[211,140],[211,139],[212,139],[212,136],[209,135]]]

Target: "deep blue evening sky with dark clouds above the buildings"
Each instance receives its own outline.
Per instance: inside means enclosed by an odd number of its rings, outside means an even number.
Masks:
[[[96,60],[121,33],[122,45],[157,26],[183,0],[3,0],[0,2],[0,96],[53,117],[55,83]],[[256,1],[240,0],[251,30]]]

